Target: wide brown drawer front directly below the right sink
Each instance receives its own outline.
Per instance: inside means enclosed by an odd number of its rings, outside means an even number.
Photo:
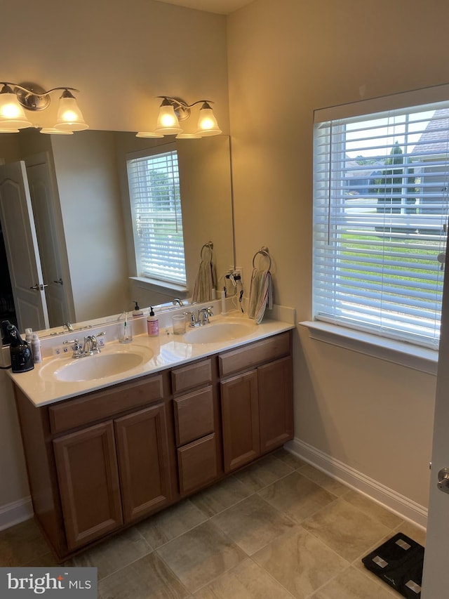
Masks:
[[[290,331],[286,331],[219,355],[220,376],[228,376],[289,354]]]

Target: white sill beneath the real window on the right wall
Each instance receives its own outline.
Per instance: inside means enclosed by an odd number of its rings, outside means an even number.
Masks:
[[[436,376],[438,352],[418,345],[380,338],[354,329],[337,327],[335,324],[317,320],[299,322],[309,329],[309,337],[340,348],[376,357],[379,360],[394,362],[413,370],[420,370]]]

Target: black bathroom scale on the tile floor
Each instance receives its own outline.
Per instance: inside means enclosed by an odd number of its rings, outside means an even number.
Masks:
[[[403,597],[421,597],[424,547],[405,534],[395,534],[362,562]]]

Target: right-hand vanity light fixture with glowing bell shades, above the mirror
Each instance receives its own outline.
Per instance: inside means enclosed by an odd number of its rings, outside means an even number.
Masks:
[[[162,103],[159,107],[159,116],[154,131],[139,131],[136,137],[158,138],[175,135],[177,139],[199,139],[206,136],[217,136],[222,132],[210,107],[210,104],[213,104],[212,100],[197,100],[193,104],[187,104],[181,98],[157,97],[162,98]],[[180,121],[185,121],[190,117],[190,109],[196,104],[202,104],[199,110],[198,124],[194,133],[188,133],[182,129]]]

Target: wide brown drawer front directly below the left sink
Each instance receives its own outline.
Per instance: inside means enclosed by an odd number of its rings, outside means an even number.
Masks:
[[[88,360],[88,358],[85,358]],[[119,412],[139,407],[163,398],[162,376],[156,375],[142,381],[123,383],[89,393],[76,400],[66,400],[48,408],[52,433],[76,428],[109,418]]]

